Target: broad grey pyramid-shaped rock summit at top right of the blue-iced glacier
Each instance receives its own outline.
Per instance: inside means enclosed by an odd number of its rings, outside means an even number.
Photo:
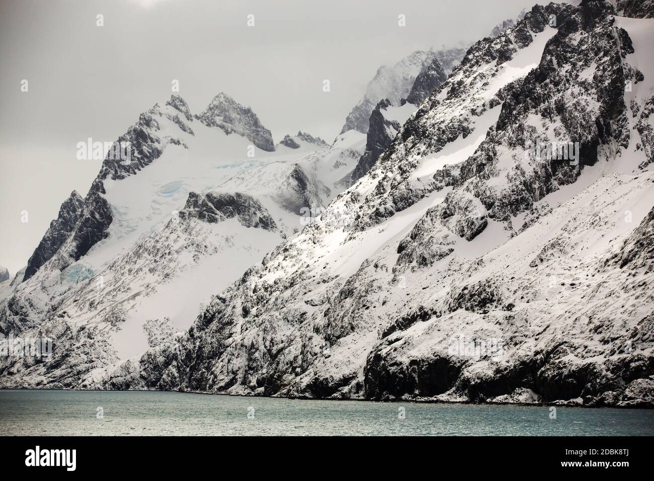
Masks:
[[[224,92],[216,95],[196,118],[207,127],[218,127],[228,135],[246,137],[264,151],[275,150],[270,131],[261,124],[252,109],[244,107]]]

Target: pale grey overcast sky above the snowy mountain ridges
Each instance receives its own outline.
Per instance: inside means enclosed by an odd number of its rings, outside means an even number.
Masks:
[[[77,143],[113,141],[174,79],[192,113],[226,92],[275,141],[303,130],[330,142],[381,65],[472,43],[534,3],[0,0],[0,264],[25,266],[71,190],[86,195],[101,162],[77,160]]]

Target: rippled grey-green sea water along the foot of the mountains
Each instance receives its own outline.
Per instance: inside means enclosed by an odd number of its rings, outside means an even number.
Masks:
[[[0,435],[654,435],[654,410],[550,414],[545,406],[0,390]]]

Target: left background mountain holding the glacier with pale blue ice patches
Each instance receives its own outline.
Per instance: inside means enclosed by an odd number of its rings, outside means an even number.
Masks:
[[[3,285],[0,332],[47,332],[76,367],[43,375],[69,385],[76,371],[188,329],[203,302],[345,188],[365,135],[341,137],[330,147],[301,134],[297,147],[275,148],[226,94],[198,116],[177,94],[155,105],[118,139],[129,158],[107,156],[86,199],[63,202],[25,270]],[[2,362],[13,374],[35,361]],[[33,366],[31,383],[44,368]]]

